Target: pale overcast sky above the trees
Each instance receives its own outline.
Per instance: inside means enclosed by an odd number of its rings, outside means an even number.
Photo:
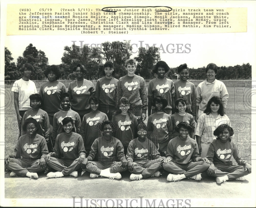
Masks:
[[[127,38],[126,38],[127,37]],[[254,37],[255,38],[255,37]],[[72,45],[72,41],[83,41],[83,44],[101,44],[105,41],[123,41],[131,40],[133,45],[133,57],[140,47],[141,42],[157,47],[163,46],[160,51],[161,60],[165,61],[169,67],[177,67],[182,63],[187,63],[189,68],[198,68],[207,66],[208,63],[216,63],[217,66],[235,66],[243,63],[250,63],[255,59],[250,49],[252,37],[249,33],[213,33],[213,34],[169,34],[169,35],[95,35],[95,36],[57,36],[57,35],[10,35],[6,36],[5,46],[11,51],[14,61],[22,56],[25,48],[32,43],[37,50],[45,52],[49,64],[60,64],[64,52],[64,46]],[[140,42],[141,41],[141,42]],[[137,44],[137,45],[136,45]],[[168,44],[175,44],[175,53],[168,53],[166,47]],[[182,50],[188,51],[185,44],[191,49],[190,53],[176,53],[177,45],[183,44]],[[179,45],[181,46],[181,45]],[[172,52],[172,45],[167,47]],[[165,52],[165,53],[164,53]],[[180,52],[180,51],[179,51]]]

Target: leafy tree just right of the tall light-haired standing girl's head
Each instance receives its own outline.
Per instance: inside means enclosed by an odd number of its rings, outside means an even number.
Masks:
[[[137,73],[144,79],[152,79],[154,77],[152,69],[157,61],[160,60],[160,54],[158,52],[159,48],[155,46],[150,46],[147,49],[140,47],[138,49],[138,56],[135,57],[135,60],[138,62]]]

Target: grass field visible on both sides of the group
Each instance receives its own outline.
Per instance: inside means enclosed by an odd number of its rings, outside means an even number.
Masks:
[[[245,86],[247,86],[248,81],[240,82],[246,83]],[[36,84],[36,86],[39,92],[40,85]],[[13,152],[18,139],[18,126],[11,87],[12,85],[6,85],[5,87],[5,153]],[[251,111],[246,111],[251,103],[251,91],[250,88],[246,87],[239,87],[240,91],[237,91],[237,87],[227,87],[227,90],[229,98],[226,114],[235,132],[233,141],[237,144],[241,157],[251,163]],[[241,90],[243,90],[243,93],[237,93]],[[248,92],[248,95],[246,92]]]

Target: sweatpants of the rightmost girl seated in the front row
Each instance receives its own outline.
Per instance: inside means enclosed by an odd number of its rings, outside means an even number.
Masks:
[[[216,165],[215,166],[215,172],[212,172],[212,174],[208,174],[212,177],[222,177],[227,175],[229,180],[234,180],[236,178],[248,175],[248,170],[245,171],[244,165]]]

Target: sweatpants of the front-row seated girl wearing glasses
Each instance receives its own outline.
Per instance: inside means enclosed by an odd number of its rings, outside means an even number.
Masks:
[[[133,162],[134,170],[131,173],[141,174],[143,178],[148,178],[159,171],[162,167],[163,160],[161,158],[155,160],[139,160]]]

